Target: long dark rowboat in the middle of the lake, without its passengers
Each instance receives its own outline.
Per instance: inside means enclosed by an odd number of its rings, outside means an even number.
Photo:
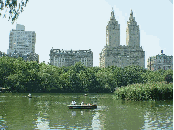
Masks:
[[[67,105],[69,109],[96,109],[97,105]]]

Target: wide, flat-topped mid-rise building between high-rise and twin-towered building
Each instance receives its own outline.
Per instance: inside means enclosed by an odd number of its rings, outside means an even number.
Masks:
[[[81,62],[87,67],[93,67],[93,52],[89,50],[50,50],[50,64],[62,67],[75,65],[76,62]]]

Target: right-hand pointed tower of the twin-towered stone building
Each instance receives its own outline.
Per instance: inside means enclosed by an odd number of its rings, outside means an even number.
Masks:
[[[127,21],[126,27],[126,45],[132,47],[140,47],[140,30],[139,25],[133,17],[133,12],[131,10],[129,21]]]

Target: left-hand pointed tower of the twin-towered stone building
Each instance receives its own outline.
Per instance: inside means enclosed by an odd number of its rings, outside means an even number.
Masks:
[[[117,47],[120,45],[120,24],[115,19],[114,10],[112,8],[110,21],[106,26],[106,45]]]

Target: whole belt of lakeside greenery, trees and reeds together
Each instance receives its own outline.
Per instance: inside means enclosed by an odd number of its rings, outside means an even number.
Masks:
[[[3,56],[0,87],[12,93],[114,93],[115,99],[167,100],[173,98],[173,70],[85,67],[81,62],[56,67]]]

